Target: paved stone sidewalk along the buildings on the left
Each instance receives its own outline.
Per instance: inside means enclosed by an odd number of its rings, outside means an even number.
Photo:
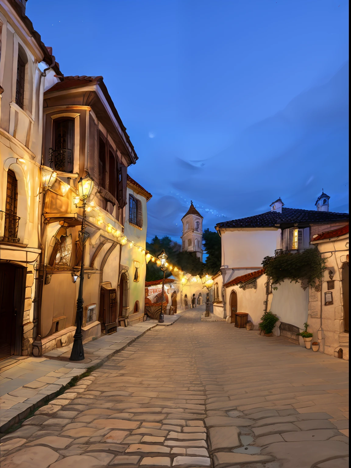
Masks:
[[[118,327],[111,335],[103,335],[83,344],[85,355],[89,357],[83,362],[68,360],[72,344],[39,358],[12,356],[0,361],[0,432],[6,431],[32,409],[52,398],[60,388],[73,377],[84,373],[89,366],[101,364],[155,326],[154,321],[150,320],[133,327]],[[113,338],[122,343],[110,341]]]

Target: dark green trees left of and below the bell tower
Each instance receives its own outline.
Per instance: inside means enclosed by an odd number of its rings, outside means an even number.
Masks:
[[[180,252],[177,244],[172,242],[168,236],[159,239],[157,236],[149,243],[146,242],[146,250],[151,255],[157,257],[165,250],[168,255],[167,262],[176,266],[178,269],[190,273],[191,275],[201,275],[204,272],[205,265],[200,262],[195,252]],[[172,272],[166,273],[166,278],[172,275]],[[156,263],[149,262],[146,265],[146,281],[162,279],[163,273]]]

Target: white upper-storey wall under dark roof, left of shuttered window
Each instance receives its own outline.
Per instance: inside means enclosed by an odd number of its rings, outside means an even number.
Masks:
[[[224,231],[221,236],[222,265],[259,269],[263,258],[273,256],[277,244],[280,246],[281,230],[275,227],[238,228]]]

